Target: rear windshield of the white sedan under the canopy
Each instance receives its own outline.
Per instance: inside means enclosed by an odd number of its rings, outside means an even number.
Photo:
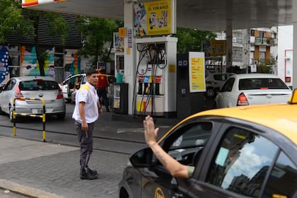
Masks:
[[[289,89],[280,78],[248,78],[239,80],[239,90]]]

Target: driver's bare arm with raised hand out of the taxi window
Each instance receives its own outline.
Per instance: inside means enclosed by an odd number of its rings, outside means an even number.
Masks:
[[[170,172],[173,177],[189,178],[194,173],[194,166],[183,165],[175,158],[166,153],[163,148],[157,143],[156,137],[158,134],[158,128],[155,129],[153,118],[146,116],[144,120],[144,136],[146,144],[151,147],[151,150],[156,155],[158,160],[164,165],[164,167]]]

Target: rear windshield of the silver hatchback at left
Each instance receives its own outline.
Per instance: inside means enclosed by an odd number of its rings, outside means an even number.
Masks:
[[[19,85],[21,91],[57,90],[56,81],[23,81]]]

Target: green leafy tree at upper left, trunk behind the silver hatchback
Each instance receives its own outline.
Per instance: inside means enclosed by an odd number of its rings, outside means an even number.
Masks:
[[[47,52],[39,44],[40,20],[47,21],[50,35],[61,35],[62,44],[66,41],[68,24],[59,13],[35,11],[21,8],[20,0],[0,0],[0,43],[5,44],[8,35],[22,34],[34,37],[40,76],[45,76]]]

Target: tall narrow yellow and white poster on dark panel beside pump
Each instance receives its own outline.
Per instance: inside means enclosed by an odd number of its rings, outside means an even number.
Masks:
[[[204,60],[204,52],[189,52],[190,93],[206,91]]]

